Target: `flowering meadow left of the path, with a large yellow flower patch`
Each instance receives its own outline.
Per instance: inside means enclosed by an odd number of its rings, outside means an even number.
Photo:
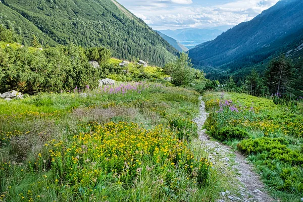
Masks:
[[[132,82],[85,93],[0,100],[0,201],[216,201],[231,190],[196,139],[197,92]]]

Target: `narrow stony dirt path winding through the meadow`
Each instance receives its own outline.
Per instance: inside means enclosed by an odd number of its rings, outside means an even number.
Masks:
[[[230,147],[224,144],[211,140],[206,134],[206,129],[201,130],[207,116],[208,113],[205,110],[205,103],[202,101],[199,117],[194,120],[199,128],[198,134],[199,139],[202,141],[202,148],[210,154],[209,158],[215,165],[215,169],[218,170],[218,173],[227,176],[234,176],[236,174],[237,176],[237,180],[230,179],[230,184],[234,187],[234,191],[226,190],[225,192],[222,192],[222,199],[218,202],[275,201],[264,192],[264,185],[260,181],[259,176],[252,172],[251,165],[245,161],[245,158],[241,154],[235,153]]]

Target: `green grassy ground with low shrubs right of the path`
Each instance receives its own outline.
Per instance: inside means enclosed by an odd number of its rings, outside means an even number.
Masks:
[[[300,201],[303,197],[302,104],[297,103],[293,108],[275,105],[272,99],[230,92],[208,92],[204,100],[210,112],[206,123],[208,133],[214,137],[220,134],[220,139],[226,138],[226,144],[246,154],[274,197],[281,201]],[[222,128],[228,129],[228,136],[224,136]],[[249,137],[237,138],[238,132],[233,136],[231,130],[247,132]]]

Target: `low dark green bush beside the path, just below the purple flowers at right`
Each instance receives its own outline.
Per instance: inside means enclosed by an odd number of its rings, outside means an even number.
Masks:
[[[212,136],[220,141],[232,139],[245,139],[249,137],[247,132],[235,127],[221,128],[217,132],[212,133]]]

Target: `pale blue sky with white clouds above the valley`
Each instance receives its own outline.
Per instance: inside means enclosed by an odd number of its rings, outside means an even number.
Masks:
[[[249,21],[279,0],[118,0],[156,30],[227,29]],[[225,31],[225,30],[223,30]]]

